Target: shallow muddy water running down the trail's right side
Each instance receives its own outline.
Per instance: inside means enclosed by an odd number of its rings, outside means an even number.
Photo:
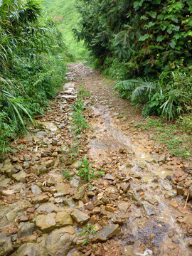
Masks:
[[[134,145],[107,107],[98,105],[92,111],[97,122],[92,122],[95,134],[89,144],[90,157],[102,164],[104,160],[110,162],[112,151],[127,152],[127,158],[113,170],[113,174],[122,172],[131,177],[129,220],[121,240],[124,255],[192,255],[188,239],[177,223],[181,213],[169,205],[171,199],[165,199],[166,193],[171,193],[174,202],[181,203],[175,198],[171,182],[165,179],[173,172],[159,165],[158,155],[145,154]],[[190,215],[182,216],[191,223]]]

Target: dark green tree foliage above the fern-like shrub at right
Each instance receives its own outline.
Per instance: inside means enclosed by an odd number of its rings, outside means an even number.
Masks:
[[[81,29],[92,54],[122,60],[127,75],[192,65],[192,1],[80,0]]]

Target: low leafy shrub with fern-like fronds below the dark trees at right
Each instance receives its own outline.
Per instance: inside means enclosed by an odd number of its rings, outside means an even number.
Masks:
[[[191,77],[175,72],[162,73],[160,78],[156,82],[141,78],[126,80],[118,82],[114,89],[118,90],[121,97],[130,98],[133,104],[146,103],[143,107],[145,116],[157,114],[166,117],[170,122],[182,113],[191,112]],[[166,81],[169,82],[164,84]]]

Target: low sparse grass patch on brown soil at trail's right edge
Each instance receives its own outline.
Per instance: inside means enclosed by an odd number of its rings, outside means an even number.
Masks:
[[[185,117],[183,117],[185,119]],[[191,120],[192,121],[192,120]],[[188,158],[192,154],[192,122],[188,117],[186,123],[177,120],[177,124],[167,125],[162,119],[147,118],[146,122],[137,123],[134,126],[146,130],[152,130],[155,134],[152,139],[156,139],[164,144],[173,156],[182,156]],[[186,132],[183,132],[183,124]]]

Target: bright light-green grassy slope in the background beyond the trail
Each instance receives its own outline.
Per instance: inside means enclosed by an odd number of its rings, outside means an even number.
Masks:
[[[87,49],[84,42],[75,41],[73,28],[78,27],[79,14],[75,9],[76,0],[44,0],[46,9],[53,20],[57,22],[63,40],[68,47],[70,58],[73,61],[83,61],[87,58]]]

